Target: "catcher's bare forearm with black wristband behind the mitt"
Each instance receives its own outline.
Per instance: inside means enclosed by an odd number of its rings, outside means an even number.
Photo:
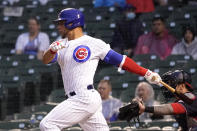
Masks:
[[[153,113],[156,115],[172,115],[174,114],[173,108],[170,104],[163,104],[153,107],[145,107],[145,112]]]

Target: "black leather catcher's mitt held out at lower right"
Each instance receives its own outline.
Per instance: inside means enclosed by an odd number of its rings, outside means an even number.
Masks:
[[[130,122],[132,118],[136,118],[140,115],[139,110],[140,108],[138,102],[133,100],[128,105],[119,109],[118,119]]]

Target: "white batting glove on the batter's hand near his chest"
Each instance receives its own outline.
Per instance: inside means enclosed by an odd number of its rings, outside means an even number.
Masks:
[[[65,44],[63,40],[55,41],[50,46],[50,51],[52,54],[57,53],[58,50],[65,48]]]

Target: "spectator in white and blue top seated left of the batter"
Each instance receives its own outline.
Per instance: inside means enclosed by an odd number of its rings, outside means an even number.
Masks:
[[[49,47],[49,37],[46,33],[40,32],[39,21],[34,17],[28,19],[28,30],[18,36],[16,54],[37,55],[37,58],[42,60],[44,51]]]

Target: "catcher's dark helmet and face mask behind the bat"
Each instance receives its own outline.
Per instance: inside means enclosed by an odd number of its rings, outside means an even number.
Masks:
[[[193,87],[191,86],[192,79],[191,75],[183,70],[175,70],[175,71],[168,71],[162,75],[162,81],[170,85],[172,88],[176,89],[178,84],[185,84],[186,88],[189,91],[193,91]],[[162,86],[162,93],[165,98],[172,98],[174,94],[171,93],[168,89]]]

